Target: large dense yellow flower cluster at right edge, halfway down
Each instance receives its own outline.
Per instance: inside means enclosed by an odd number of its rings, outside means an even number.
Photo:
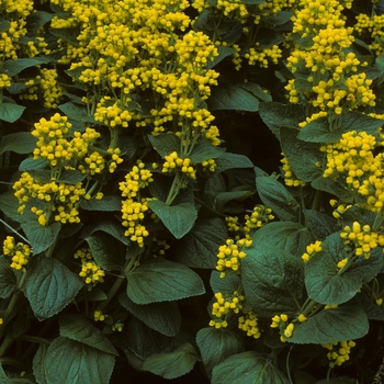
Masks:
[[[383,137],[376,136],[351,131],[339,142],[320,147],[327,155],[323,177],[346,182],[350,191],[365,200],[362,205],[373,212],[380,212],[384,202],[383,154],[374,154],[383,145]]]

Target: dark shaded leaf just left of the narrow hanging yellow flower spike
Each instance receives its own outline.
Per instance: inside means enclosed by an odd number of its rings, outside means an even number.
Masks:
[[[125,264],[126,247],[105,231],[86,237],[94,261],[105,271],[122,271]]]

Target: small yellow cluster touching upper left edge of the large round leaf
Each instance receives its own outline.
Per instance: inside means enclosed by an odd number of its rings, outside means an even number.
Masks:
[[[246,247],[250,247],[252,240],[239,239],[236,242],[231,239],[227,239],[225,245],[218,247],[216,270],[221,272],[221,278],[225,278],[225,270],[237,271],[240,267],[240,260],[247,255],[242,250]]]

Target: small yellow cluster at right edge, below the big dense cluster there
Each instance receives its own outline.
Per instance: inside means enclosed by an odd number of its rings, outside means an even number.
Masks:
[[[359,222],[353,222],[352,227],[345,226],[340,237],[346,245],[354,246],[355,256],[363,256],[365,259],[370,258],[372,249],[384,246],[384,235],[372,231],[368,224],[361,225]]]

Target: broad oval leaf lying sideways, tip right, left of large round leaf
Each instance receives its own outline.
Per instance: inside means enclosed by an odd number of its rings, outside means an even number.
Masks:
[[[205,293],[197,273],[168,260],[146,261],[126,276],[127,295],[136,304],[170,302]]]

